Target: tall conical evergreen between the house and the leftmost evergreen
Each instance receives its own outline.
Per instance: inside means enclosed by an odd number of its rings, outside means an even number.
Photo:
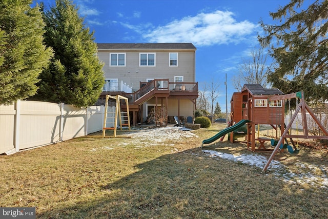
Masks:
[[[94,104],[105,80],[93,32],[69,0],[56,0],[56,5],[44,13],[44,19],[45,42],[54,50],[54,57],[49,69],[40,74],[35,98],[77,107]]]

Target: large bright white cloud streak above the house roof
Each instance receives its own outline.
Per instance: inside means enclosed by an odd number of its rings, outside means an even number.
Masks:
[[[151,43],[192,42],[197,46],[238,44],[254,34],[258,26],[249,21],[237,22],[233,15],[230,11],[199,13],[148,30],[147,33],[143,28],[142,36]],[[130,28],[140,31],[140,28]]]

